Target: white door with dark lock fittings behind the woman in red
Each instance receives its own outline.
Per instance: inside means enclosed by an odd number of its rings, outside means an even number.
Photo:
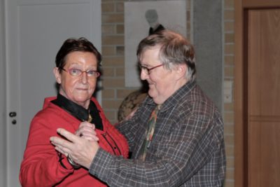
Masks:
[[[51,73],[57,49],[66,38],[85,36],[101,50],[101,4],[100,0],[0,0],[0,4],[0,187],[15,187],[20,186],[31,118],[43,98],[56,93]],[[10,111],[17,112],[13,118],[17,125],[11,124]]]

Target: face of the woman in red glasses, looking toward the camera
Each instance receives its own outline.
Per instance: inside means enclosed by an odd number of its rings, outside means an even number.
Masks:
[[[69,71],[69,69],[96,71],[97,58],[93,53],[74,51],[66,55],[66,63],[63,69],[66,71]],[[80,76],[71,76],[66,71],[61,71],[61,73],[59,73],[57,67],[54,69],[55,78],[57,83],[60,84],[59,94],[87,109],[96,87],[97,78],[94,76],[87,76],[85,72]]]

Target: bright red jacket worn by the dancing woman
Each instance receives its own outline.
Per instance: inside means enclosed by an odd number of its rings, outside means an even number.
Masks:
[[[80,120],[71,116],[59,106],[52,104],[55,97],[45,98],[43,110],[31,121],[27,147],[20,167],[22,186],[106,186],[105,183],[90,175],[81,167],[74,170],[63,156],[65,169],[59,163],[55,147],[50,144],[50,137],[57,136],[57,128],[62,127],[70,132],[78,130]],[[99,146],[114,155],[128,156],[128,144],[109,120],[96,99],[92,98],[103,122],[103,131],[96,130]]]

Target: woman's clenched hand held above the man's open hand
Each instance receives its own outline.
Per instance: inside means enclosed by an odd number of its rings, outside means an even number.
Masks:
[[[87,139],[89,141],[99,141],[97,133],[95,132],[95,125],[88,123],[87,121],[80,123],[80,126],[78,127],[78,130],[76,130],[75,134],[78,137],[83,137],[83,139]]]

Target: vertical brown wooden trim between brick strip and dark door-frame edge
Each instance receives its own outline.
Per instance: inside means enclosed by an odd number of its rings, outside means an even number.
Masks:
[[[235,186],[244,187],[243,6],[235,1]]]

